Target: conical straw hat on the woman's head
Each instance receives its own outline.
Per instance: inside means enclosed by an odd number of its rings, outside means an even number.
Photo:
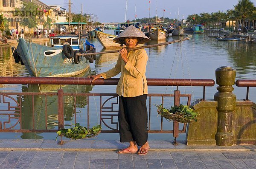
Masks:
[[[124,31],[122,31],[117,37],[115,37],[115,39],[113,39],[113,42],[125,44],[125,37],[137,37],[138,44],[150,41],[150,38],[146,37],[142,31],[135,28],[133,25],[125,28]]]

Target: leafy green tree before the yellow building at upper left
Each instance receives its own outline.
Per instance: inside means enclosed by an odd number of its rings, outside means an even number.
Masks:
[[[38,11],[38,8],[39,6],[29,1],[22,1],[22,7],[15,8],[14,15],[23,17],[20,25],[29,28],[29,38],[31,38],[30,29],[38,25],[38,21],[41,21],[41,16],[43,15],[43,12]]]

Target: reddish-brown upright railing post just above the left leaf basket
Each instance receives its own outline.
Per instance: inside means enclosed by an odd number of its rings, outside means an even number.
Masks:
[[[64,103],[63,98],[64,92],[63,89],[58,89],[58,130],[64,128]]]

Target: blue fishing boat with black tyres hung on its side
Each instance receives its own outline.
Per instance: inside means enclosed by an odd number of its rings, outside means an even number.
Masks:
[[[65,23],[70,25],[80,23]],[[85,24],[85,23],[82,23]],[[77,31],[78,32],[78,31]],[[50,46],[26,42],[19,39],[13,53],[15,62],[25,65],[30,76],[35,77],[70,77],[78,75],[93,62],[96,56],[77,56],[77,53],[93,53],[93,44],[87,42],[87,35],[77,32],[72,34],[54,34],[50,37]]]

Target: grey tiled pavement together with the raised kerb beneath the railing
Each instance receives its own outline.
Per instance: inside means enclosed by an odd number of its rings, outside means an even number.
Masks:
[[[255,169],[255,146],[173,146],[169,142],[150,141],[148,155],[117,154],[104,147],[105,141],[93,141],[93,147],[79,148],[82,142],[59,146],[54,141],[0,140],[0,169]],[[36,142],[36,144],[33,144]],[[86,141],[88,142],[88,141]],[[89,141],[90,142],[90,141]],[[96,143],[97,142],[97,143]],[[108,141],[110,142],[110,141]],[[118,142],[116,142],[118,143]],[[51,145],[52,144],[52,145]],[[7,147],[6,145],[9,145]],[[100,145],[102,145],[101,148]],[[157,147],[160,147],[158,148]],[[167,147],[169,148],[163,148]],[[55,147],[54,147],[55,146]],[[67,148],[68,147],[68,148]]]

